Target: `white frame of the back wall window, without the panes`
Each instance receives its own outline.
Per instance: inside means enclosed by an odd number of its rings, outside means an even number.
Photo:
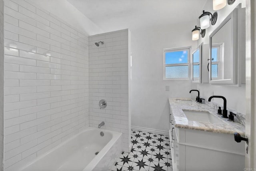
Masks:
[[[166,48],[164,49],[163,58],[164,58],[164,67],[163,67],[163,78],[164,80],[190,80],[190,50],[191,46],[179,47],[179,48]],[[188,51],[188,63],[184,64],[165,64],[165,53],[166,52],[176,52],[176,51]],[[166,78],[166,67],[167,66],[188,66],[188,78]]]

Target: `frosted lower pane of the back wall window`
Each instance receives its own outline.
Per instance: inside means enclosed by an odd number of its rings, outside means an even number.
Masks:
[[[166,66],[166,78],[188,78],[188,66]]]

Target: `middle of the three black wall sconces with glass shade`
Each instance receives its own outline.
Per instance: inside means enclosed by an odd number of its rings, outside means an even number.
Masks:
[[[210,16],[211,16],[211,18],[210,18]],[[206,29],[206,28],[210,27],[210,22],[212,25],[214,25],[217,21],[217,18],[218,18],[217,12],[214,12],[212,14],[210,12],[204,12],[204,10],[203,10],[203,14],[201,14],[199,16],[201,29]]]

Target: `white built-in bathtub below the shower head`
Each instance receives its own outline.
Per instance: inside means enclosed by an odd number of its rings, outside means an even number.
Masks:
[[[108,171],[121,152],[122,133],[88,127],[21,171]]]

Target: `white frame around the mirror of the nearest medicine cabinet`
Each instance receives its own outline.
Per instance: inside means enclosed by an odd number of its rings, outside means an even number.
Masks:
[[[224,80],[212,80],[212,36],[218,32],[226,24],[226,22],[231,21],[231,25],[233,26],[231,28],[231,34],[232,36],[232,42],[233,42],[233,50],[231,54],[232,63],[230,64],[233,67],[233,72],[231,73],[230,79],[224,79]],[[209,83],[210,84],[237,84],[237,8],[235,8],[228,16],[227,18],[216,28],[212,34],[209,36],[209,44],[210,44],[210,64],[209,64]],[[224,56],[225,58],[225,56]]]

